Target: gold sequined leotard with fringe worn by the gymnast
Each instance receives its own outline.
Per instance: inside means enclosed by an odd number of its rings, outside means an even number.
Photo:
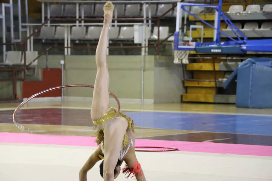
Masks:
[[[97,119],[96,121],[93,121],[94,129],[96,130],[96,143],[97,145],[101,146],[102,152],[104,151],[104,125],[107,121],[116,117],[124,117],[128,122],[128,128],[130,128],[131,131],[135,134],[133,120],[122,112],[120,112],[118,116],[116,116],[116,113],[117,110],[111,107],[111,109],[107,113],[105,113],[101,118]],[[131,146],[134,147],[134,144],[132,138],[128,136],[127,130],[123,138],[123,144],[119,157],[120,160],[128,152],[128,149]]]

